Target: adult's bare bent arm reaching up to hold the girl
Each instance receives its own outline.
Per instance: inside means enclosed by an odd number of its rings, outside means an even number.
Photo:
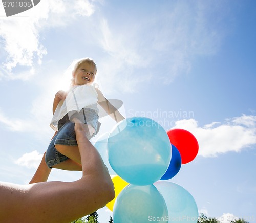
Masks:
[[[71,222],[96,211],[115,196],[111,177],[98,151],[75,125],[82,160],[82,178],[75,182],[29,185],[0,184],[3,222]]]

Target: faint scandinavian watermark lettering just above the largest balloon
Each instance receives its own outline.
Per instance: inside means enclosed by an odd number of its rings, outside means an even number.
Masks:
[[[177,111],[166,111],[162,110],[161,108],[157,108],[153,111],[135,111],[133,109],[127,110],[127,116],[128,117],[147,117],[154,121],[157,121],[157,123],[161,126],[164,126],[166,128],[172,128],[176,125],[176,121],[182,120],[182,119],[192,119],[194,118],[194,111],[185,111],[182,109],[179,109]],[[142,123],[137,123],[142,124]],[[146,123],[148,124],[152,123]],[[154,123],[153,123],[154,124]]]

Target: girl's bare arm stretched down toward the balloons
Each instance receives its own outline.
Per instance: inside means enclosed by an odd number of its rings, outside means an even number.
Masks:
[[[113,118],[116,122],[120,122],[124,119],[124,117],[119,113],[117,108],[115,108],[109,101],[104,97],[102,92],[95,88],[98,93],[98,104]]]

